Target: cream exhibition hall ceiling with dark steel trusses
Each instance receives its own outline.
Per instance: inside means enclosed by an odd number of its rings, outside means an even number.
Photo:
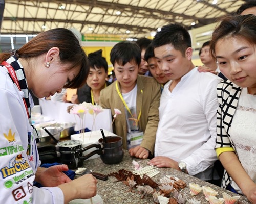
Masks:
[[[5,0],[1,34],[37,34],[53,28],[81,34],[115,34],[136,38],[168,23],[187,29],[213,23],[235,12],[237,0]]]

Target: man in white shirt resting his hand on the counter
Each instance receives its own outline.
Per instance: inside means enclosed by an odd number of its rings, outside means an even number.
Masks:
[[[204,181],[219,179],[213,167],[216,87],[221,78],[197,71],[189,33],[181,25],[163,27],[152,45],[158,66],[170,81],[161,95],[155,158],[149,164],[175,168]]]

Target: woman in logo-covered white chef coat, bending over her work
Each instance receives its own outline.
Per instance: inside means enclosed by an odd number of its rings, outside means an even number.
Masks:
[[[68,203],[96,195],[96,179],[71,181],[66,165],[39,167],[33,101],[62,88],[78,88],[89,66],[75,35],[62,28],[42,32],[19,50],[0,54],[0,203]],[[33,186],[41,183],[43,188]]]

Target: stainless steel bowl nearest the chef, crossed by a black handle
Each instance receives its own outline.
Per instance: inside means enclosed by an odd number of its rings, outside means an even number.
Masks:
[[[46,129],[53,135],[53,137],[59,141],[60,139],[60,134],[61,131],[63,130],[63,127],[49,127],[47,126]],[[46,143],[46,144],[56,144],[56,142],[48,135],[48,133],[42,129],[36,129],[38,136],[40,138],[41,143]]]

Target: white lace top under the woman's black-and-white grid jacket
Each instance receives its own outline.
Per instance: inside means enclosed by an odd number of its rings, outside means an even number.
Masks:
[[[256,183],[256,96],[247,94],[247,88],[241,91],[230,136],[244,170]],[[242,194],[234,181],[231,186]]]

